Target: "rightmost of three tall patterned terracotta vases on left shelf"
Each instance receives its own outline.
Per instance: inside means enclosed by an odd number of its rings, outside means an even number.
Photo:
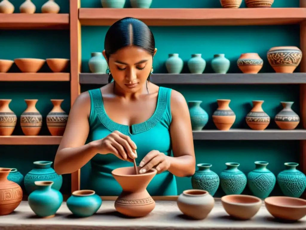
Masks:
[[[52,136],[63,136],[68,115],[61,108],[63,99],[51,99],[54,107],[47,115],[47,127]]]

